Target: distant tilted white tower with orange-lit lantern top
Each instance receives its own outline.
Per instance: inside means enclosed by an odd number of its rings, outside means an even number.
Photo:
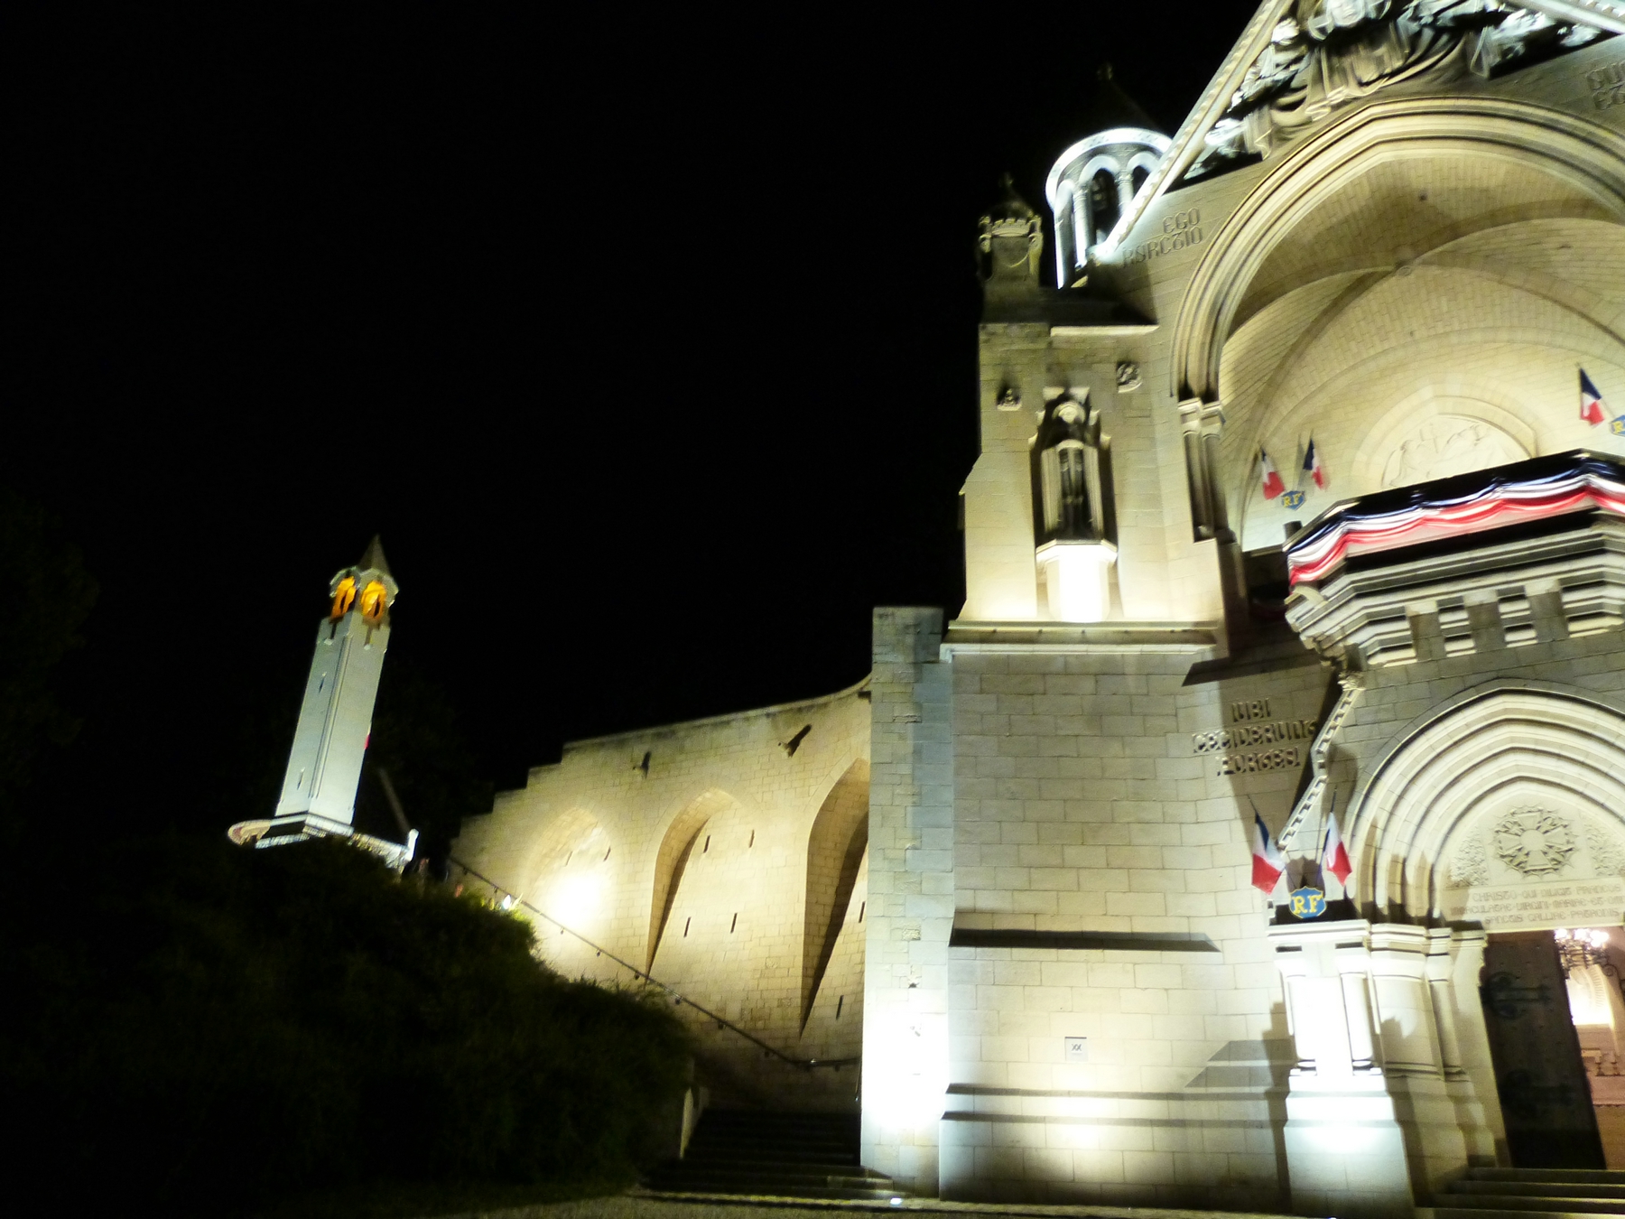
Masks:
[[[372,705],[384,653],[390,645],[390,606],[400,592],[377,538],[361,562],[333,577],[328,592],[333,606],[317,627],[315,657],[276,816],[268,822],[232,827],[236,840],[275,847],[327,835],[367,839],[356,834],[351,822],[361,764],[372,735]],[[364,845],[388,855],[401,850],[395,844],[372,840]],[[411,845],[406,844],[398,863],[411,855]]]

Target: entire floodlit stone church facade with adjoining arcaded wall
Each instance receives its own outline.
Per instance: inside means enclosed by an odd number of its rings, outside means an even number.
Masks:
[[[570,746],[470,883],[700,1003],[731,1104],[856,1099],[920,1193],[1399,1214],[1601,1167],[1625,1011],[1529,996],[1625,954],[1625,423],[1576,410],[1583,369],[1625,413],[1620,33],[1266,0],[1172,138],[1102,81],[1050,221],[983,219],[957,618]]]

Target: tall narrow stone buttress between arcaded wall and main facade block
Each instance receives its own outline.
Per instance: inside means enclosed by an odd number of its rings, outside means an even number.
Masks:
[[[871,679],[863,1164],[938,1191],[954,925],[952,671],[942,611],[878,608]]]

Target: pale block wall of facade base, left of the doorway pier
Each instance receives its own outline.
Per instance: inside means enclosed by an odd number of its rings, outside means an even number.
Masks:
[[[1211,644],[972,631],[946,649],[970,943],[949,949],[944,1196],[1282,1208],[1292,1047],[1248,829],[1254,806],[1285,819],[1328,675],[1287,653],[1191,681]],[[986,946],[1079,930],[1124,946]]]

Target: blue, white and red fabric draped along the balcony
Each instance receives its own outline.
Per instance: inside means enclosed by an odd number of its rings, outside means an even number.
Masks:
[[[1350,556],[1588,509],[1625,515],[1625,465],[1586,450],[1537,457],[1337,504],[1287,543],[1287,567],[1292,583],[1321,580]]]

